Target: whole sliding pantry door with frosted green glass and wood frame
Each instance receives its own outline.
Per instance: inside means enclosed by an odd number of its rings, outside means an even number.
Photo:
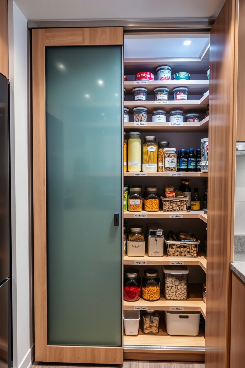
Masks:
[[[123,28],[32,32],[36,361],[123,361],[122,45]]]

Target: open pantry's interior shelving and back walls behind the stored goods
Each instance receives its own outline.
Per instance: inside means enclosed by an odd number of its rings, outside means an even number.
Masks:
[[[139,32],[138,32],[139,33]],[[124,81],[125,100],[124,107],[129,109],[129,122],[124,123],[124,132],[140,132],[141,145],[145,136],[155,136],[156,142],[168,141],[169,147],[178,150],[185,148],[200,148],[201,139],[208,137],[209,116],[207,116],[207,105],[209,103],[209,33],[158,33],[128,34],[124,36]],[[190,40],[190,45],[184,45],[185,40]],[[159,66],[172,68],[170,81],[156,80],[156,68]],[[147,71],[154,74],[154,81],[135,81],[135,74]],[[190,80],[173,80],[173,75],[178,72],[190,74]],[[147,89],[146,101],[133,101],[133,89],[143,87]],[[156,105],[154,100],[154,89],[158,87],[169,88],[168,102]],[[188,88],[187,101],[173,101],[172,91],[177,87]],[[177,104],[176,104],[177,103]],[[143,126],[133,122],[132,110],[134,107],[147,108],[147,123]],[[152,112],[155,110],[166,111],[166,123],[152,123]],[[184,122],[181,126],[171,126],[169,113],[172,110],[182,110],[184,114],[198,113],[199,122]],[[184,115],[185,116],[185,115]],[[138,126],[137,126],[138,125]],[[194,187],[199,188],[201,198],[208,181],[206,172],[148,172],[134,173],[124,172],[124,185],[130,187],[142,185],[156,186],[159,194],[164,191],[164,185],[173,185],[174,190],[179,190],[181,178],[189,178],[192,192]],[[203,209],[203,201],[201,202]],[[179,217],[179,218],[178,218]],[[141,224],[144,227],[145,239],[148,223],[161,224],[164,233],[169,230],[186,231],[194,233],[200,240],[197,257],[169,257],[164,248],[163,257],[149,257],[147,251],[145,256],[123,256],[124,269],[136,268],[140,276],[144,270],[154,268],[158,270],[162,280],[163,265],[185,265],[189,269],[188,296],[184,301],[166,300],[161,288],[161,297],[158,301],[146,301],[140,298],[138,301],[123,301],[124,310],[156,310],[159,311],[159,333],[147,335],[143,333],[142,317],[140,320],[139,334],[137,336],[123,336],[123,357],[125,359],[149,359],[149,360],[204,360],[205,352],[205,325],[206,305],[202,299],[202,287],[206,282],[206,255],[203,253],[204,240],[207,233],[208,216],[203,210],[188,212],[163,212],[160,207],[158,212],[123,212],[123,220],[130,225]],[[147,243],[147,242],[146,242]],[[171,336],[166,332],[164,322],[164,311],[200,311],[203,316],[203,324],[200,325],[198,336]]]

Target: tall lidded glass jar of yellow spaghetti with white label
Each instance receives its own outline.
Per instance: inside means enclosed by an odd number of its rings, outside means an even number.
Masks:
[[[157,171],[157,144],[156,137],[154,135],[147,135],[144,137],[143,143],[143,159],[142,159],[142,171],[154,172]]]

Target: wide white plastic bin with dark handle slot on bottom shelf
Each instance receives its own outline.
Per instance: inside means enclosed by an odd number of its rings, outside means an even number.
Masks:
[[[201,312],[165,311],[165,324],[169,335],[197,336]]]

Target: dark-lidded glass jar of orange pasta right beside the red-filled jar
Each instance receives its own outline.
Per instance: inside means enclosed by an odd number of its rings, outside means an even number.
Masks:
[[[145,300],[154,301],[160,299],[160,279],[158,270],[147,268],[142,277],[142,297]]]

